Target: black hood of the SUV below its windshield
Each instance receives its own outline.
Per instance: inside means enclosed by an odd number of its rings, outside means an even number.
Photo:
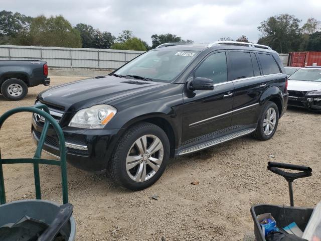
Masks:
[[[38,98],[44,103],[73,112],[168,84],[107,76],[55,86],[41,92]]]

